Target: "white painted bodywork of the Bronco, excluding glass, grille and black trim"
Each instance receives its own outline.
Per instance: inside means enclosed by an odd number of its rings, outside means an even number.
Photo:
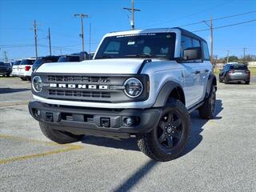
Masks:
[[[174,32],[176,33],[176,43],[174,57],[180,57],[181,31],[178,29],[157,29],[157,30],[132,30],[118,33],[106,34],[102,40],[109,36],[122,34]],[[98,51],[98,50],[97,50]],[[96,51],[96,54],[97,54]],[[96,55],[95,54],[95,55]],[[94,57],[95,57],[94,55]],[[97,59],[83,62],[46,63],[38,68],[38,73],[65,73],[65,74],[137,74],[142,65],[143,58],[118,58],[118,59]],[[199,70],[200,74],[195,74]],[[206,73],[206,70],[209,72]],[[122,103],[101,103],[101,102],[73,102],[55,99],[40,98],[34,95],[34,99],[39,102],[63,106],[85,106],[110,109],[132,109],[150,108],[156,102],[162,86],[166,82],[177,82],[183,89],[186,97],[186,108],[190,108],[201,102],[206,92],[206,82],[212,70],[209,61],[178,63],[169,60],[152,59],[146,63],[141,74],[148,74],[150,77],[150,94],[144,102],[122,102]]]

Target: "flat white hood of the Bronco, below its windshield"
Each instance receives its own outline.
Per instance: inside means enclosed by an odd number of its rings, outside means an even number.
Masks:
[[[82,62],[45,63],[38,73],[66,74],[137,74],[144,58],[95,59]]]

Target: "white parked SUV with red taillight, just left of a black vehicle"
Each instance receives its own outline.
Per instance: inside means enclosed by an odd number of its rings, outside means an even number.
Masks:
[[[19,64],[17,76],[20,77],[23,81],[30,81],[34,61],[35,58],[25,58],[22,59],[22,62]]]

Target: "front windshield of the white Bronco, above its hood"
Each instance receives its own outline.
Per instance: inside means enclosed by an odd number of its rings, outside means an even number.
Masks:
[[[97,58],[174,58],[174,33],[127,34],[107,37]]]

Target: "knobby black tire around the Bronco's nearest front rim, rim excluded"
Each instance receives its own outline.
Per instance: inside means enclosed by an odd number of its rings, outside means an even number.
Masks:
[[[182,102],[171,98],[162,110],[162,114],[165,114],[168,110],[177,112],[182,120],[182,138],[174,149],[164,149],[158,142],[157,131],[159,126],[154,127],[148,134],[137,135],[138,148],[148,157],[159,162],[167,162],[178,158],[182,154],[190,135],[190,115],[186,106]]]

